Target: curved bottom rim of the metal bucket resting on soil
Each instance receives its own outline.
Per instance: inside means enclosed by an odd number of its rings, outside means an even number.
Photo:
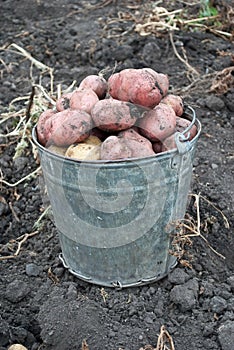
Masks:
[[[128,283],[128,284],[124,284],[121,283],[121,281],[113,281],[113,282],[101,282],[101,281],[96,281],[93,278],[89,277],[89,276],[85,276],[82,274],[79,274],[75,271],[73,271],[69,265],[66,263],[66,260],[63,256],[62,253],[59,254],[59,259],[62,262],[63,266],[68,269],[68,271],[73,274],[74,276],[76,276],[77,278],[81,279],[82,281],[88,282],[88,283],[92,283],[92,284],[96,284],[96,285],[100,285],[103,287],[110,287],[110,288],[116,288],[116,289],[122,289],[122,288],[130,288],[130,287],[138,287],[138,286],[144,286],[146,284],[149,283],[153,283],[156,281],[159,281],[160,279],[166,277],[177,265],[178,261],[175,260],[173,262],[173,264],[171,264],[168,268],[168,271],[166,271],[165,273],[158,273],[156,276],[152,276],[151,278],[146,278],[146,279],[141,279],[139,281],[133,282],[133,283]]]

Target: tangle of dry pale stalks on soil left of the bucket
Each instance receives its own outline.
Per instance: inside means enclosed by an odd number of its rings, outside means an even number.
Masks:
[[[16,44],[11,44],[7,47],[1,48],[13,55],[23,56],[31,63],[30,76],[32,81],[32,92],[27,96],[16,97],[9,104],[8,112],[1,114],[0,124],[2,127],[12,120],[12,127],[9,130],[8,126],[5,128],[6,132],[1,133],[0,136],[5,138],[8,142],[16,143],[14,159],[21,156],[25,150],[32,146],[31,131],[33,125],[36,123],[39,115],[48,108],[49,104],[55,103],[53,98],[53,69],[39,62],[33,58],[26,50]],[[39,70],[39,76],[33,76],[33,67]],[[40,84],[34,84],[34,81],[41,80],[42,75],[48,74],[50,77],[50,93]],[[22,107],[22,104],[24,107]],[[20,109],[19,109],[20,106]],[[8,125],[8,124],[7,124]],[[7,145],[8,143],[6,143]],[[25,180],[28,177],[25,178]],[[0,183],[11,186],[7,181],[3,180],[1,175]],[[12,184],[17,186],[17,184]]]

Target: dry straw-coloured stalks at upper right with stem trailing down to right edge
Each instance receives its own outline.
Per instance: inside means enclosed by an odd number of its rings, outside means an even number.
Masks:
[[[183,3],[184,8],[178,8],[177,3]],[[174,5],[173,5],[174,4]],[[170,8],[170,10],[167,8]],[[201,75],[190,63],[185,48],[177,50],[174,42],[174,34],[183,30],[206,31],[221,36],[226,40],[232,40],[234,31],[231,23],[234,23],[234,11],[226,6],[215,16],[199,16],[202,8],[200,1],[188,3],[177,1],[156,1],[142,3],[135,1],[134,4],[123,5],[123,10],[118,12],[116,18],[107,18],[103,28],[103,36],[107,38],[122,38],[135,31],[140,36],[169,36],[175,56],[184,64],[185,73],[191,84],[180,89],[178,93],[206,88],[206,91],[226,93],[233,86],[232,68],[225,72]],[[194,9],[194,10],[193,10]],[[214,79],[214,81],[212,81]],[[226,81],[227,79],[227,81]],[[197,86],[199,86],[197,88]],[[183,90],[183,91],[182,91]],[[175,91],[176,93],[176,91]]]

